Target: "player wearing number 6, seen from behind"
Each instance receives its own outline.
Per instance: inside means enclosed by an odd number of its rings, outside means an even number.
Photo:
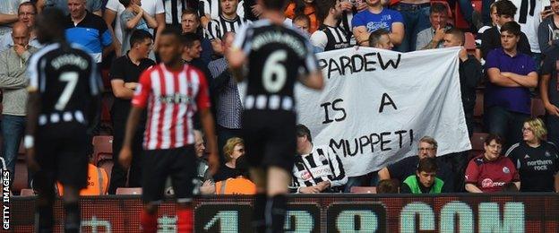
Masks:
[[[264,20],[238,32],[228,62],[238,80],[248,64],[242,121],[246,159],[257,186],[253,227],[256,232],[283,232],[285,194],[297,147],[295,82],[322,89],[323,76],[305,36],[284,26],[286,0],[258,4]]]

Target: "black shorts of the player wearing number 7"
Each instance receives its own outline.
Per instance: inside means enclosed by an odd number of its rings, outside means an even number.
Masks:
[[[39,172],[34,175],[34,186],[50,188],[57,181],[64,186],[87,186],[87,146],[91,144],[86,126],[62,123],[39,126],[35,135],[35,158]]]

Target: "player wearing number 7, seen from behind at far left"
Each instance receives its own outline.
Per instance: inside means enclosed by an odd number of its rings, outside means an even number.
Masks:
[[[100,79],[93,58],[64,39],[64,15],[47,9],[37,17],[37,37],[46,44],[30,58],[25,148],[37,171],[38,232],[53,232],[55,182],[64,186],[64,232],[81,227],[79,192],[87,185],[88,132],[99,116]]]

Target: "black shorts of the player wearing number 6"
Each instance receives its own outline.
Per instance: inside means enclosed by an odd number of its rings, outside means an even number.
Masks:
[[[296,115],[289,111],[245,110],[243,139],[252,167],[291,172],[297,152]]]

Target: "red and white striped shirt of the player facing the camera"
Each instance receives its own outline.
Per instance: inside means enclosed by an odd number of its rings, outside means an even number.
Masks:
[[[211,102],[206,78],[198,69],[184,65],[173,72],[159,64],[142,73],[132,105],[148,108],[143,148],[164,150],[194,143],[194,112],[210,108]]]

